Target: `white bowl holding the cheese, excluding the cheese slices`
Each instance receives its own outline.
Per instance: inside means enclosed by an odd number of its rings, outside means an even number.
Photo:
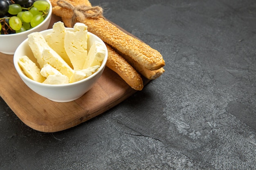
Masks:
[[[66,28],[67,30],[72,30],[73,28]],[[45,31],[41,31],[43,36],[51,33],[52,29],[47,29]],[[19,57],[23,55],[27,55],[32,61],[35,62],[33,58],[34,55],[28,45],[28,39],[23,41],[17,48],[13,56],[13,63],[18,72],[20,78],[27,84],[29,88],[31,88],[34,92],[39,95],[46,97],[54,102],[71,102],[74,101],[81,96],[83,96],[87,91],[89,91],[92,86],[97,82],[103,70],[106,66],[106,62],[108,59],[108,49],[105,43],[96,35],[88,32],[88,50],[92,46],[92,43],[95,41],[99,41],[105,47],[106,55],[99,67],[98,71],[90,75],[89,77],[82,79],[78,82],[70,83],[70,84],[61,84],[61,85],[52,85],[52,84],[43,84],[36,82],[32,79],[29,79],[22,71],[18,64]],[[32,56],[32,57],[31,57]]]

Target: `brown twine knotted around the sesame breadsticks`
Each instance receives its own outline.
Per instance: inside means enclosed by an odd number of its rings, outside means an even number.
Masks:
[[[89,7],[86,5],[79,5],[74,7],[74,5],[72,5],[71,3],[65,0],[58,0],[57,4],[62,8],[71,9],[73,11],[72,26],[74,26],[76,19],[79,22],[84,22],[85,18],[98,18],[98,17],[104,18],[103,9],[99,6]],[[88,13],[88,11],[91,11],[91,12]]]

